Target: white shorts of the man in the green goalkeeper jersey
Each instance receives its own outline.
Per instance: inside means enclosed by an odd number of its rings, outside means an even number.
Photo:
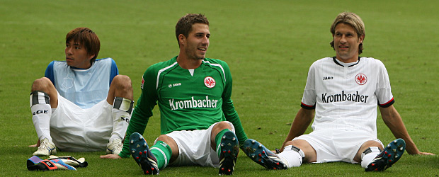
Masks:
[[[227,122],[227,121],[226,121]],[[212,166],[217,168],[220,166],[220,159],[218,158],[215,149],[210,147],[210,135],[213,126],[210,125],[207,130],[190,130],[190,131],[175,131],[167,136],[176,141],[178,146],[178,158],[170,166]],[[235,132],[233,124],[228,122],[232,127],[232,132]],[[157,140],[156,140],[157,141]],[[154,142],[155,144],[156,142]]]

